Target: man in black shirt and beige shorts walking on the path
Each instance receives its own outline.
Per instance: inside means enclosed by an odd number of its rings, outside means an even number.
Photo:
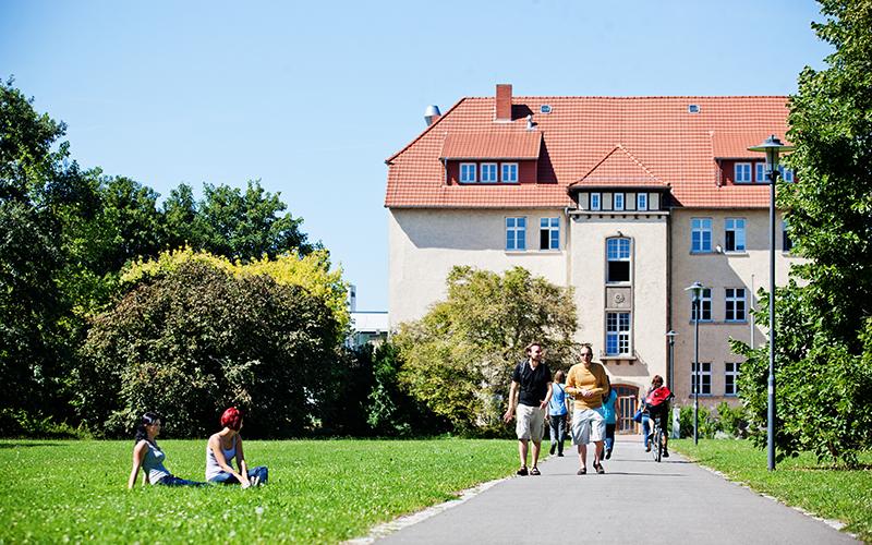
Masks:
[[[545,431],[545,408],[552,399],[552,372],[542,363],[542,344],[532,342],[526,347],[528,359],[514,367],[509,391],[509,410],[502,420],[511,422],[517,416],[514,432],[518,434],[518,453],[521,457],[519,475],[526,475],[526,458],[530,441],[533,441],[533,467],[529,474],[538,475],[538,451],[542,433]],[[517,409],[517,414],[516,414]]]

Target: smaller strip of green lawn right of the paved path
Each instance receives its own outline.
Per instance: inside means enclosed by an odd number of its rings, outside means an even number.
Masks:
[[[766,451],[746,440],[673,439],[669,447],[732,481],[774,496],[826,519],[847,524],[845,530],[872,543],[872,452],[860,457],[867,469],[834,470],[819,464],[813,455],[782,461],[766,470]]]

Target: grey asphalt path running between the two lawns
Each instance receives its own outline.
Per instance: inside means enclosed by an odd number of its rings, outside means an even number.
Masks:
[[[639,437],[619,437],[603,465],[597,475],[589,460],[576,475],[567,446],[566,457],[540,463],[541,476],[502,481],[377,543],[858,543],[678,455],[656,463]]]

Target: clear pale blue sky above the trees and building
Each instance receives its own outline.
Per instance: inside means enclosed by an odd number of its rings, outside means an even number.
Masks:
[[[829,47],[810,0],[0,0],[0,77],[69,125],[73,157],[167,195],[280,192],[387,308],[387,167],[463,96],[779,95]]]

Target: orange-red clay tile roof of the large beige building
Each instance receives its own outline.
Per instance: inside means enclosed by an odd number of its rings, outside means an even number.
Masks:
[[[691,104],[700,107],[699,113],[688,112]],[[552,112],[540,113],[543,105]],[[579,180],[610,175],[618,185],[622,177],[650,174],[649,180],[670,187],[680,206],[766,207],[765,185],[724,185],[717,159],[739,153],[755,157],[742,149],[787,130],[787,98],[780,96],[514,97],[512,111],[517,119],[496,122],[493,97],[458,101],[388,159],[385,206],[564,207],[572,205],[567,189]],[[535,131],[526,131],[524,118],[531,112]],[[500,138],[530,133],[542,138],[538,183],[445,184],[440,157],[447,136],[451,142],[453,135],[488,135],[482,143],[471,143],[473,136],[458,138],[470,149],[492,149],[509,146]]]

